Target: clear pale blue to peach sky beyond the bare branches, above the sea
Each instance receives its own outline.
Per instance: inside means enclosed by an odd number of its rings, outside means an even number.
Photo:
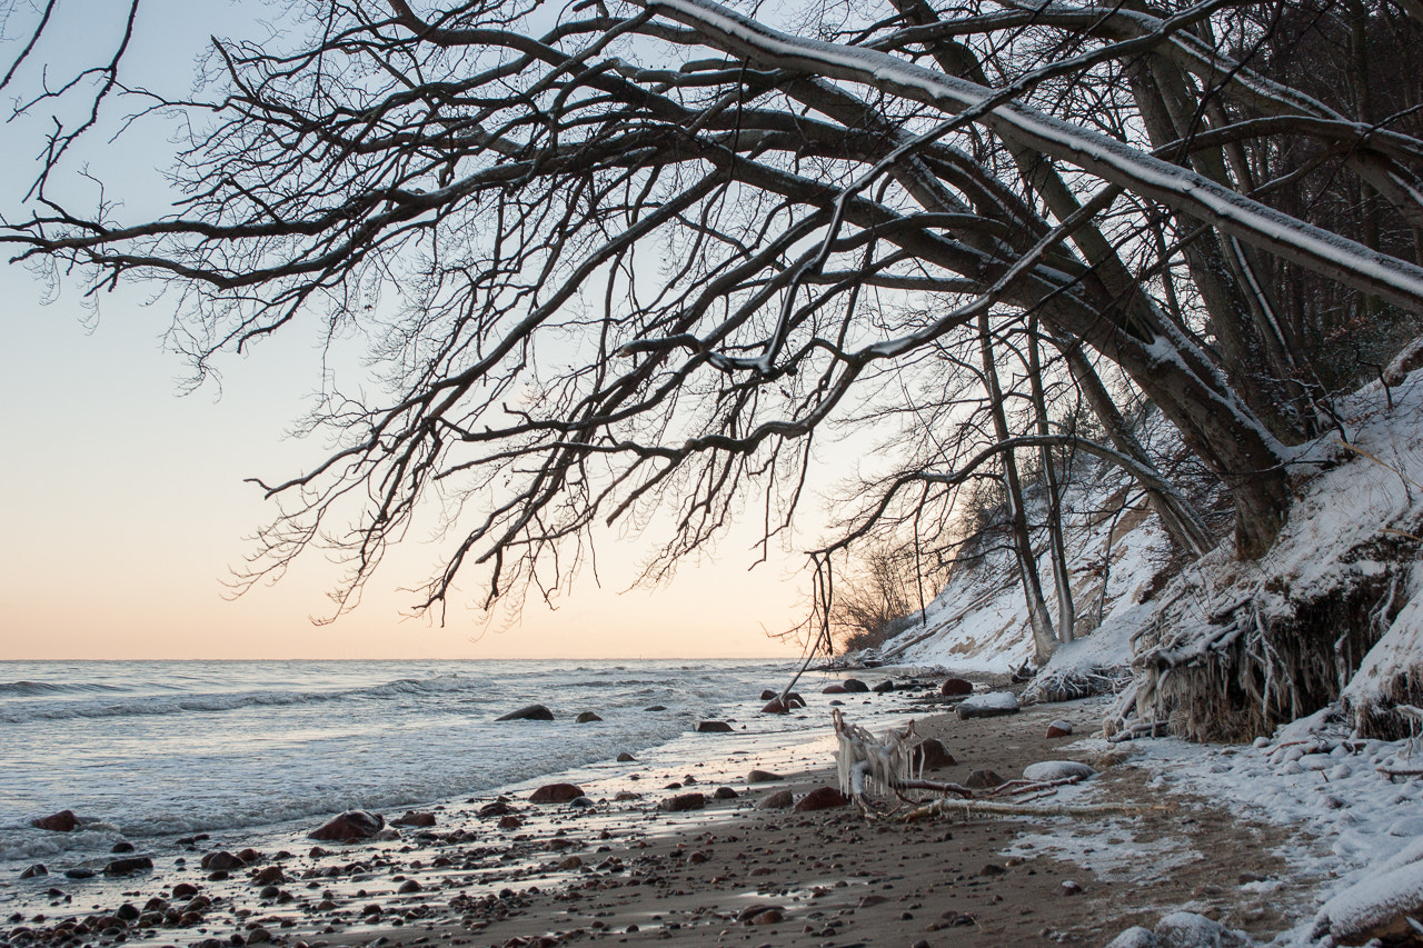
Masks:
[[[61,4],[63,6],[63,4]],[[120,4],[75,0],[91,24]],[[208,30],[250,23],[258,3],[213,4],[219,23],[164,16],[139,21],[135,68],[182,77]],[[191,10],[191,9],[189,9]],[[185,10],[188,13],[189,10]],[[228,20],[222,20],[226,17]],[[92,54],[102,28],[67,34],[64,53]],[[14,43],[0,46],[9,63]],[[51,56],[60,53],[51,51]],[[33,127],[28,130],[33,132]],[[16,134],[18,132],[18,134]],[[14,206],[33,179],[34,148],[0,148],[0,201]],[[0,132],[6,134],[6,132]],[[94,147],[84,159],[121,181],[131,209],[158,206],[154,154],[142,142]],[[9,256],[9,255],[7,255]],[[407,541],[370,584],[361,605],[333,623],[333,572],[316,558],[275,586],[233,599],[225,581],[272,515],[248,477],[292,475],[322,455],[293,438],[319,383],[320,353],[300,336],[277,337],[221,363],[222,384],[181,394],[186,366],[164,350],[171,305],[137,289],[101,299],[80,286],[47,288],[0,263],[0,660],[4,659],[295,659],[295,658],[719,658],[794,656],[771,638],[803,618],[797,558],[748,571],[748,534],[689,564],[655,591],[625,589],[639,555],[605,545],[602,586],[583,579],[558,611],[531,604],[507,629],[487,629],[474,609],[445,623],[411,618],[413,594],[437,565],[421,537]]]

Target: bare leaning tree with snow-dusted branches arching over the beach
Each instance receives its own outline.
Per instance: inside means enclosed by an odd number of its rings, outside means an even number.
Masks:
[[[1043,411],[1012,430],[1005,403],[1046,403],[998,380],[1009,350],[1080,387],[1103,431],[1083,447],[1202,552],[1101,373],[1128,380],[1220,478],[1237,554],[1259,557],[1288,517],[1291,446],[1329,423],[1301,313],[1329,296],[1423,315],[1416,102],[1360,111],[1279,61],[1289,30],[1340,17],[1407,50],[1416,0],[813,0],[761,19],[713,0],[307,0],[272,38],[213,40],[186,97],[125,84],[139,3],[112,58],[33,94],[65,4],[33,27],[11,10],[0,85],[21,112],[78,118],[50,128],[0,241],[94,290],[171,286],[199,373],[293,320],[366,335],[386,386],[317,406],[339,447],[263,484],[280,515],[256,567],[333,542],[346,596],[427,498],[454,541],[423,608],[465,572],[490,602],[556,584],[596,524],[653,510],[652,574],[748,498],[774,534],[815,436],[875,417],[906,376],[905,397],[972,376],[999,406],[986,443],[882,478],[817,561],[985,464],[1022,520],[1016,454],[1079,438]],[[135,112],[182,135],[174,211],[152,221],[61,188],[104,117]],[[1311,201],[1319,181],[1366,195],[1375,226]]]

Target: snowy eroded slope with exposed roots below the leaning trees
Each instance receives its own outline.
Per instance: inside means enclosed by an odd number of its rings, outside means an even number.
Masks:
[[[1077,471],[1066,505],[1080,638],[1040,672],[1039,693],[1070,695],[1093,676],[1120,685],[1130,666],[1118,723],[1170,722],[1195,739],[1265,734],[1340,696],[1366,730],[1370,716],[1393,720],[1393,705],[1419,703],[1423,370],[1366,386],[1336,416],[1338,430],[1295,455],[1289,521],[1254,562],[1235,559],[1227,539],[1168,579],[1170,542],[1140,493],[1123,511],[1134,491],[1123,474]],[[989,534],[980,547],[885,643],[884,660],[1007,672],[1032,659],[1006,539]],[[1046,558],[1040,575],[1052,596]],[[1390,729],[1397,720],[1373,733]]]

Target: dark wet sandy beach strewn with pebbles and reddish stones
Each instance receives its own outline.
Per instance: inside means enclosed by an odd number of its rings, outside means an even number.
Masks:
[[[855,705],[847,702],[847,716]],[[761,809],[777,791],[800,800],[832,786],[831,756],[781,762],[784,780],[748,783],[767,762],[723,754],[707,734],[690,773],[629,762],[586,789],[588,809],[524,799],[491,807],[499,801],[477,797],[434,809],[434,826],[403,828],[398,840],[303,841],[273,853],[198,838],[181,864],[122,880],[107,898],[54,877],[44,904],[10,915],[0,931],[16,947],[1101,945],[1175,910],[1255,937],[1308,911],[1309,888],[1272,854],[1281,828],[1150,786],[1130,744],[1080,740],[1101,707],[1043,705],[975,720],[936,713],[918,733],[956,759],[925,774],[933,780],[962,783],[978,769],[1012,780],[1054,759],[1091,764],[1097,776],[1032,803],[1123,807],[1114,816],[904,821],[904,810],[871,820],[855,807]],[[1047,737],[1054,720],[1074,736]],[[716,799],[719,787],[736,796]],[[693,791],[707,796],[704,809],[659,809]],[[213,851],[246,864],[203,871]]]

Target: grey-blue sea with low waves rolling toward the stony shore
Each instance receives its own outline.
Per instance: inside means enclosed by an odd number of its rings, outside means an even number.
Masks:
[[[0,880],[34,863],[102,865],[120,841],[162,853],[198,833],[275,838],[351,809],[388,816],[596,781],[628,770],[619,753],[679,773],[713,747],[694,733],[707,719],[734,722],[710,753],[828,766],[825,676],[798,683],[818,699],[807,712],[757,713],[761,690],[794,672],[777,660],[0,662]],[[555,720],[495,720],[535,702]],[[602,720],[576,723],[581,712]],[[30,826],[60,810],[80,830]]]

